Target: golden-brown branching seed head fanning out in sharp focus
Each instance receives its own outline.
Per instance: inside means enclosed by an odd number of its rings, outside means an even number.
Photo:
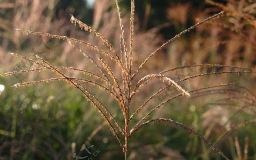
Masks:
[[[183,129],[187,130],[188,132],[190,132],[192,134],[195,134],[197,137],[199,137],[199,139],[203,140],[206,144],[211,146],[212,150],[214,150],[215,152],[220,154],[222,158],[228,159],[211,142],[209,142],[203,136],[201,136],[199,133],[197,133],[193,129],[185,126],[182,123],[176,122],[175,120],[172,120],[172,119],[164,119],[164,118],[152,119],[152,120],[148,120],[147,122],[145,122],[145,121],[153,113],[155,113],[155,111],[158,110],[160,107],[166,105],[166,103],[170,102],[171,100],[175,100],[175,98],[178,98],[181,96],[195,98],[197,96],[204,96],[207,94],[221,93],[221,94],[229,95],[230,92],[232,92],[232,93],[241,92],[241,90],[238,88],[234,88],[234,89],[233,88],[232,89],[226,89],[226,88],[222,89],[221,88],[221,89],[208,90],[208,89],[217,88],[217,87],[225,87],[225,86],[229,86],[229,85],[235,85],[235,83],[213,85],[210,87],[204,87],[204,88],[187,91],[179,85],[179,83],[181,81],[190,80],[195,77],[208,76],[208,75],[219,75],[219,74],[224,74],[224,73],[233,73],[233,74],[234,73],[255,73],[256,71],[251,70],[249,68],[226,66],[226,65],[220,65],[220,64],[195,64],[195,65],[190,65],[190,66],[177,67],[177,68],[173,68],[171,70],[165,70],[163,72],[160,72],[159,74],[157,74],[157,73],[149,74],[147,76],[142,77],[142,79],[140,79],[137,84],[132,85],[132,83],[131,83],[132,80],[134,79],[134,77],[137,75],[137,73],[143,68],[144,64],[147,63],[151,57],[153,57],[156,53],[158,53],[160,50],[162,50],[165,46],[167,46],[168,44],[170,44],[172,41],[176,40],[183,34],[191,31],[192,29],[195,29],[199,25],[204,24],[205,22],[207,22],[213,18],[217,18],[218,16],[221,16],[224,12],[220,12],[216,15],[210,16],[209,18],[201,21],[200,23],[193,25],[192,27],[186,29],[183,32],[180,32],[175,37],[168,40],[162,46],[158,47],[158,49],[156,49],[151,54],[149,54],[148,57],[146,59],[144,59],[144,61],[141,63],[141,65],[137,68],[137,70],[132,75],[135,1],[131,0],[129,53],[127,52],[127,46],[126,46],[126,42],[125,42],[125,32],[123,29],[121,12],[120,12],[120,8],[118,6],[118,0],[115,0],[115,5],[117,6],[119,27],[121,29],[121,36],[120,36],[121,53],[120,54],[117,53],[117,51],[114,49],[113,45],[108,40],[106,40],[106,38],[104,36],[102,36],[100,33],[95,31],[93,28],[89,27],[88,25],[82,23],[82,21],[76,19],[72,15],[71,15],[71,22],[73,24],[75,24],[75,25],[79,24],[79,27],[81,29],[84,29],[85,31],[88,31],[88,32],[92,33],[94,36],[100,38],[100,40],[102,42],[104,42],[104,45],[106,45],[109,48],[109,51],[100,49],[100,47],[92,45],[88,42],[85,42],[82,40],[77,40],[76,38],[69,38],[66,36],[59,36],[56,34],[49,34],[49,33],[42,33],[42,32],[32,32],[32,31],[27,31],[27,30],[23,30],[23,29],[15,29],[19,32],[26,33],[26,34],[39,35],[42,37],[51,37],[51,38],[57,38],[57,39],[62,39],[62,40],[68,41],[72,47],[74,47],[77,51],[79,51],[82,55],[84,55],[84,57],[86,59],[89,59],[90,62],[92,62],[93,67],[96,67],[96,69],[98,71],[100,71],[100,74],[102,75],[102,77],[96,75],[94,72],[80,70],[78,68],[54,67],[51,64],[49,64],[46,60],[39,57],[38,55],[35,55],[35,57],[37,59],[39,59],[39,61],[33,60],[33,59],[28,59],[26,57],[22,57],[22,56],[19,56],[16,54],[11,54],[11,55],[14,55],[15,57],[18,57],[20,59],[28,60],[29,62],[31,62],[33,64],[38,64],[40,66],[40,68],[32,68],[30,70],[8,72],[8,73],[0,74],[0,76],[9,76],[9,75],[14,75],[15,73],[28,73],[28,72],[34,72],[34,71],[40,72],[40,71],[44,71],[44,70],[51,70],[52,72],[56,73],[56,75],[60,76],[60,77],[46,79],[46,80],[39,80],[39,81],[30,81],[27,83],[18,83],[18,84],[15,84],[13,87],[22,87],[22,86],[27,86],[27,85],[48,83],[50,81],[57,81],[57,80],[66,81],[67,83],[71,84],[73,87],[78,89],[82,93],[82,95],[86,98],[86,100],[92,104],[92,106],[98,111],[98,113],[100,113],[102,118],[105,120],[105,123],[108,124],[110,130],[113,132],[113,135],[118,140],[121,148],[123,149],[123,152],[125,152],[125,153],[127,152],[127,141],[129,139],[129,137],[131,135],[133,135],[136,131],[138,131],[139,128],[142,128],[146,124],[153,123],[153,122],[170,122],[170,123],[175,124],[176,126],[179,126]],[[224,9],[226,10],[227,8],[224,8]],[[229,10],[226,10],[226,11],[229,11]],[[88,54],[86,54],[84,51],[82,51],[79,47],[77,47],[74,44],[86,45],[90,49],[97,51],[96,57],[98,58],[100,64],[102,64],[102,67],[100,67],[98,65],[99,64],[98,62],[97,62],[98,63],[97,64],[93,60],[93,58],[91,58]],[[123,51],[123,53],[122,53],[122,51]],[[107,62],[106,60],[101,58],[101,55],[103,55],[102,57],[104,57],[104,58],[109,58],[110,60],[112,60],[111,62],[114,62],[115,65],[118,66],[119,69],[121,69],[122,83],[123,83],[122,88],[120,87],[121,83],[119,83],[117,76],[114,75],[114,73],[113,73],[113,68],[110,67],[108,65],[108,63],[106,63]],[[236,69],[236,70],[241,70],[241,71],[222,71],[222,72],[200,73],[197,75],[185,77],[184,79],[181,79],[178,81],[174,81],[170,77],[163,75],[164,73],[167,73],[167,72],[171,72],[171,71],[175,71],[175,70],[183,69],[183,68],[190,68],[190,67],[222,67],[222,68],[231,68],[231,69]],[[65,73],[62,72],[63,70],[77,71],[79,73],[84,73],[84,75],[89,76],[89,77],[88,77],[88,79],[69,77],[69,76],[65,75]],[[149,81],[154,80],[154,79],[162,80],[164,83],[168,83],[168,85],[166,87],[164,87],[163,89],[159,89],[157,92],[152,94],[152,96],[150,98],[148,98],[146,101],[144,101],[142,103],[142,105],[139,106],[137,108],[137,110],[135,110],[135,112],[133,114],[131,114],[131,116],[130,116],[130,105],[131,105],[130,103],[131,103],[132,99],[135,97],[134,95],[139,90],[141,90],[142,87],[146,86],[146,84]],[[99,81],[97,81],[97,80],[99,80]],[[119,123],[117,122],[117,119],[114,118],[114,116],[110,113],[108,108],[92,92],[90,92],[90,90],[88,90],[83,85],[81,85],[82,84],[81,82],[82,83],[85,82],[85,83],[94,85],[95,87],[97,87],[99,89],[104,89],[110,96],[112,96],[115,100],[117,100],[118,105],[121,108],[123,118],[125,120],[125,124],[124,124],[125,126],[123,128],[119,125]],[[101,84],[102,82],[106,84],[105,85],[106,87]],[[131,90],[131,86],[134,86],[134,85],[135,85],[134,90]],[[168,97],[167,100],[161,101],[157,106],[155,106],[153,109],[149,110],[148,113],[146,113],[146,115],[144,115],[143,118],[141,118],[137,124],[135,124],[134,126],[129,126],[130,120],[132,120],[134,118],[134,116],[137,115],[140,111],[142,111],[143,107],[145,107],[148,104],[148,102],[150,102],[153,98],[158,96],[158,94],[162,93],[165,89],[167,89],[170,86],[174,87],[176,90],[178,90],[181,93],[174,94],[174,96]],[[192,94],[192,93],[195,93],[195,94]],[[191,94],[192,94],[192,96],[191,96]],[[222,99],[222,102],[225,102],[227,100],[232,100],[234,102],[237,102],[236,98],[238,96],[236,94],[236,95],[233,95],[232,97],[229,97],[229,99]],[[250,97],[247,94],[243,94],[243,96],[240,96],[238,98],[240,98],[240,100],[243,103],[249,104],[249,105],[251,105],[252,103],[255,103],[255,99],[256,99],[255,97],[253,97],[253,96]],[[242,109],[244,109],[244,108],[245,107],[243,107]],[[119,130],[119,132],[118,132],[118,130]],[[121,140],[121,138],[118,135],[119,133],[122,133],[124,140]]]

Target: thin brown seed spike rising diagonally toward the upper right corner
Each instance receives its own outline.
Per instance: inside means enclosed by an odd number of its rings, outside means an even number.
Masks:
[[[144,64],[153,56],[155,55],[156,53],[158,53],[159,50],[163,49],[164,46],[166,46],[167,44],[169,44],[170,42],[176,40],[177,38],[179,38],[180,36],[182,36],[183,34],[191,31],[192,29],[195,29],[196,27],[198,27],[199,25],[201,24],[204,24],[205,22],[213,19],[213,18],[218,18],[219,16],[223,15],[224,12],[220,12],[216,15],[213,15],[213,16],[210,16],[209,18],[207,19],[204,19],[203,21],[193,25],[192,27],[188,28],[188,29],[185,29],[183,32],[180,32],[179,34],[177,34],[176,36],[174,36],[173,38],[171,38],[170,40],[168,40],[166,43],[164,43],[162,46],[160,46],[158,49],[156,49],[154,52],[152,52],[150,55],[148,55],[148,57],[144,60],[144,62],[142,62],[142,64],[139,66],[139,68],[137,69],[137,71],[133,74],[133,76],[131,77],[131,79],[133,79],[133,77],[135,75],[137,75],[137,73],[139,72],[139,70],[141,70],[141,68],[144,66]]]

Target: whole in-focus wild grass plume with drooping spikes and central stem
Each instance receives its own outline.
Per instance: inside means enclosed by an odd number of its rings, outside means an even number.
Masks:
[[[60,36],[57,34],[51,33],[43,33],[43,32],[34,32],[26,29],[15,29],[15,31],[22,32],[24,34],[33,35],[33,36],[42,36],[42,37],[49,37],[49,38],[57,38],[63,41],[67,41],[69,45],[71,45],[75,50],[77,50],[80,54],[84,56],[84,58],[88,59],[90,64],[93,66],[93,71],[88,71],[86,69],[80,69],[75,67],[64,67],[64,66],[53,66],[53,64],[49,63],[46,59],[43,59],[39,55],[34,55],[34,58],[26,58],[21,55],[17,55],[14,53],[10,53],[16,58],[28,60],[31,63],[36,64],[37,68],[31,68],[30,70],[22,70],[22,71],[14,71],[14,72],[7,72],[1,74],[1,76],[9,76],[15,75],[16,73],[28,73],[28,72],[42,72],[42,71],[52,71],[55,73],[56,77],[51,77],[49,79],[43,79],[38,81],[28,81],[26,83],[17,83],[13,85],[13,87],[23,87],[28,85],[36,85],[42,83],[49,83],[52,81],[65,81],[66,83],[72,85],[74,88],[79,90],[79,92],[86,98],[88,102],[98,111],[101,115],[102,119],[104,119],[105,123],[108,124],[109,129],[112,131],[115,139],[119,142],[120,147],[125,153],[125,159],[127,157],[127,153],[129,152],[129,139],[131,136],[134,135],[137,131],[141,128],[146,126],[146,124],[151,124],[154,122],[167,122],[174,124],[185,131],[188,131],[189,134],[197,136],[200,140],[202,140],[205,144],[210,146],[213,152],[218,153],[222,158],[229,159],[221,152],[220,149],[217,148],[212,142],[207,140],[203,135],[199,132],[196,132],[191,127],[186,126],[183,123],[177,122],[174,119],[167,119],[167,118],[156,118],[152,119],[152,115],[156,113],[161,107],[166,105],[168,102],[175,100],[176,98],[183,97],[197,97],[197,96],[210,96],[213,94],[213,89],[215,88],[223,88],[223,87],[232,87],[236,85],[236,83],[225,83],[225,84],[216,84],[210,85],[208,87],[200,87],[196,89],[188,90],[184,88],[181,83],[184,81],[192,80],[197,77],[204,77],[222,74],[236,74],[236,73],[255,73],[256,71],[245,68],[245,67],[236,67],[236,66],[228,66],[228,65],[221,65],[221,64],[194,64],[190,66],[184,67],[176,67],[169,70],[164,70],[159,73],[150,72],[147,75],[141,74],[142,69],[149,63],[149,60],[154,57],[154,55],[158,54],[160,50],[164,49],[167,45],[171,44],[171,42],[175,41],[177,38],[183,36],[183,34],[200,27],[207,23],[208,21],[212,21],[213,19],[219,18],[220,16],[224,15],[225,12],[221,11],[218,14],[210,16],[199,23],[185,29],[183,32],[177,34],[156,50],[152,51],[145,59],[143,59],[142,63],[139,64],[138,67],[134,67],[134,11],[135,11],[135,2],[131,0],[131,8],[130,8],[130,25],[129,31],[125,31],[123,26],[123,20],[121,17],[121,11],[118,5],[118,1],[115,0],[115,6],[117,8],[117,15],[119,19],[119,29],[121,33],[121,41],[120,46],[121,50],[117,50],[112,45],[112,42],[108,41],[101,33],[98,33],[89,25],[82,23],[82,21],[76,19],[73,15],[71,15],[71,23],[74,25],[78,24],[80,29],[84,30],[85,32],[89,32],[97,38],[98,41],[101,41],[105,45],[105,49],[102,49],[100,46],[93,45],[90,42],[78,40],[76,38],[71,38],[67,36]],[[127,38],[129,41],[126,42],[125,33],[129,34]],[[143,41],[142,41],[143,43]],[[90,55],[81,49],[81,46],[86,46],[90,50],[95,51],[94,55]],[[230,71],[216,71],[216,72],[206,72],[206,73],[196,73],[194,75],[188,75],[183,79],[175,81],[172,79],[171,76],[167,76],[167,73],[172,73],[177,70],[183,70],[184,68],[193,68],[193,67],[200,67],[200,68],[228,68]],[[118,69],[116,69],[118,68]],[[232,69],[232,70],[231,70]],[[115,71],[117,70],[117,71]],[[81,73],[82,77],[72,77],[69,76],[67,72],[78,72]],[[136,78],[135,78],[136,77]],[[160,88],[161,85],[155,86],[158,88],[155,92],[152,92],[151,96],[143,101],[142,105],[135,104],[134,106],[134,99],[139,96],[139,93],[142,91],[142,88],[150,89],[150,85],[152,85],[152,81],[160,81],[163,85],[166,85],[164,88]],[[109,97],[112,97],[113,100],[119,106],[118,114],[122,115],[122,119],[117,119],[114,116],[114,113],[111,112],[111,106],[107,106],[104,102],[97,97],[97,94],[93,93],[92,89],[90,89],[90,85],[94,86],[95,88],[104,90],[104,93],[108,94]],[[167,97],[166,99],[162,100],[159,105],[153,107],[153,109],[149,111],[143,110],[144,107],[148,105],[150,101],[168,88],[172,88],[177,91],[177,94],[174,94],[172,97]],[[238,89],[239,91],[240,89]],[[232,93],[234,90],[231,90]],[[102,91],[103,92],[103,91]],[[218,93],[226,93],[229,92],[228,89],[217,89]],[[238,96],[243,99],[241,96]],[[229,97],[230,99],[236,99],[236,97]],[[230,100],[229,99],[229,100]],[[247,100],[249,101],[249,100]],[[254,101],[255,102],[255,101]],[[243,110],[243,109],[241,109]],[[238,111],[239,112],[239,111]],[[143,115],[142,118],[137,117],[138,114]],[[137,119],[136,119],[137,118]],[[239,125],[237,125],[239,126]],[[236,127],[233,127],[236,128]],[[232,129],[233,130],[233,129]],[[229,130],[226,134],[228,134]],[[237,145],[238,148],[238,145]],[[241,156],[241,155],[240,155]]]

